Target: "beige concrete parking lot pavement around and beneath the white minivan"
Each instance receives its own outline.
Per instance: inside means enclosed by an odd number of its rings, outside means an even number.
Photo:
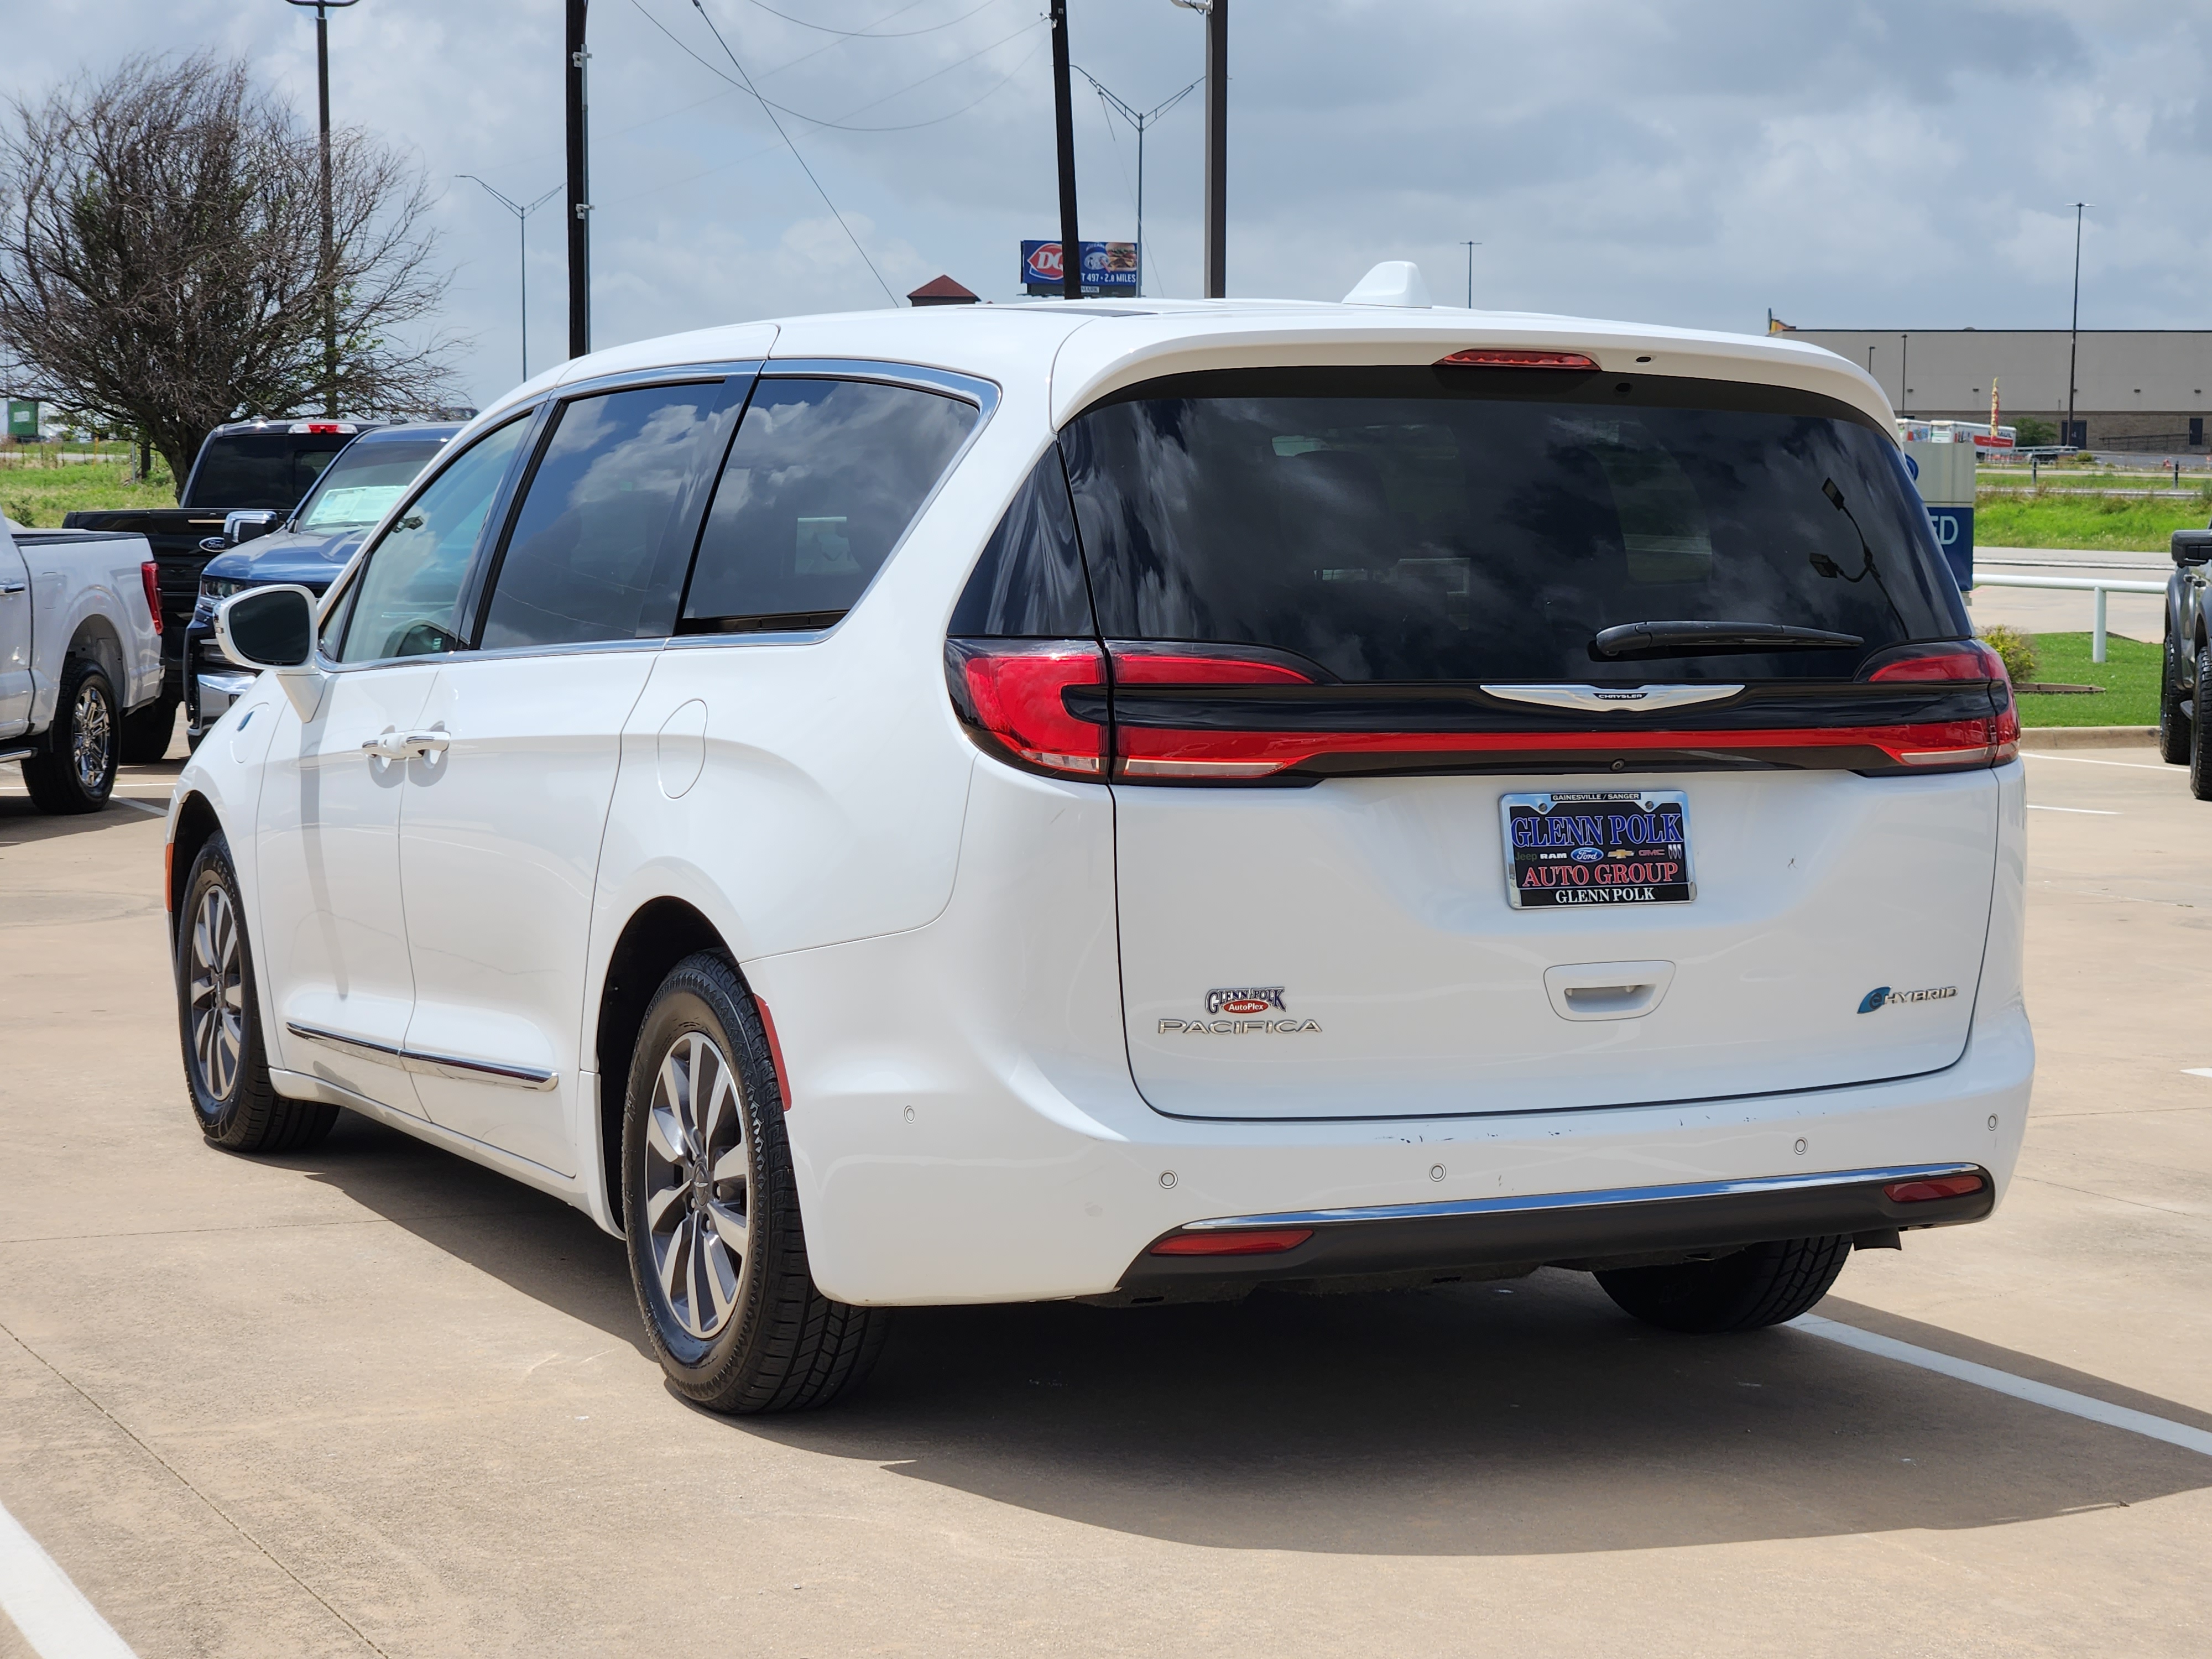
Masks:
[[[159,818],[0,785],[0,1506],[146,1659],[2212,1648],[2205,1451],[1564,1272],[914,1312],[852,1402],[706,1416],[582,1214],[352,1117],[208,1150]],[[2028,799],[2020,1179],[1820,1314],[2201,1438],[2212,805],[2150,750]]]

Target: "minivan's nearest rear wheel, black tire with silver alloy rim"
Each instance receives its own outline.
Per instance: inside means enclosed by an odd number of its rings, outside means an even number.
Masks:
[[[637,1310],[686,1398],[741,1416],[803,1411],[876,1363],[889,1310],[814,1287],[768,1035],[712,951],[677,962],[637,1033],[622,1219]]]

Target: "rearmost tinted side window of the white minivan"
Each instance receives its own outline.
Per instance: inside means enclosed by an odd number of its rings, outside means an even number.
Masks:
[[[845,615],[973,431],[958,398],[761,380],[714,489],[679,633]]]

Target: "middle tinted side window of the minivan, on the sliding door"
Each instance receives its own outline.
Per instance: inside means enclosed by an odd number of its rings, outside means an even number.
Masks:
[[[719,380],[655,385],[560,411],[500,560],[484,650],[675,628],[690,553],[679,509],[721,398]]]

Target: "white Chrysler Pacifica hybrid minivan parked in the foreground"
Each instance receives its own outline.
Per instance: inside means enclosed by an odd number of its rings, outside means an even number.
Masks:
[[[1318,303],[805,316],[473,420],[186,768],[192,1108],[628,1241],[672,1383],[889,1307],[1540,1265],[1794,1318],[1986,1217],[2022,765],[1856,365]]]

